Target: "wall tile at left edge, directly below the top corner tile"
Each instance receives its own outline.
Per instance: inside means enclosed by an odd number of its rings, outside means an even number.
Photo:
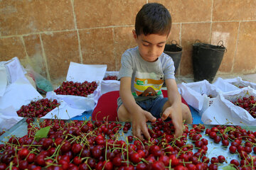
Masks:
[[[26,52],[21,38],[0,38],[0,61],[8,61],[13,57],[18,57],[21,64],[26,64]]]

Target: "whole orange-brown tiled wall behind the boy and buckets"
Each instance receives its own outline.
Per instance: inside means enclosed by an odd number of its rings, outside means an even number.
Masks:
[[[183,48],[177,77],[193,77],[195,40],[213,45],[223,40],[227,52],[217,74],[256,72],[254,0],[2,0],[0,61],[18,57],[51,81],[64,79],[70,62],[118,71],[122,53],[136,46],[136,14],[151,2],[171,13],[167,42],[176,40]]]

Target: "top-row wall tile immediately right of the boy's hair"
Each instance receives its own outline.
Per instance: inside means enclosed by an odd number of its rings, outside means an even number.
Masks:
[[[149,0],[163,4],[171,13],[173,23],[210,21],[213,0]]]

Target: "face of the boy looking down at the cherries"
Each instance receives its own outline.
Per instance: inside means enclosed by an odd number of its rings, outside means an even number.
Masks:
[[[139,46],[139,53],[147,62],[155,62],[158,57],[164,52],[167,35],[141,34],[137,36],[135,30],[132,31],[134,39]]]

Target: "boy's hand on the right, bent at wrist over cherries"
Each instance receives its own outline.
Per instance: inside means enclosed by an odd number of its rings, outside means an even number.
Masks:
[[[166,108],[163,115],[161,116],[162,120],[166,120],[166,118],[171,118],[172,123],[174,123],[175,128],[175,137],[180,137],[183,134],[183,120],[182,113],[177,113],[177,110],[174,107]]]

